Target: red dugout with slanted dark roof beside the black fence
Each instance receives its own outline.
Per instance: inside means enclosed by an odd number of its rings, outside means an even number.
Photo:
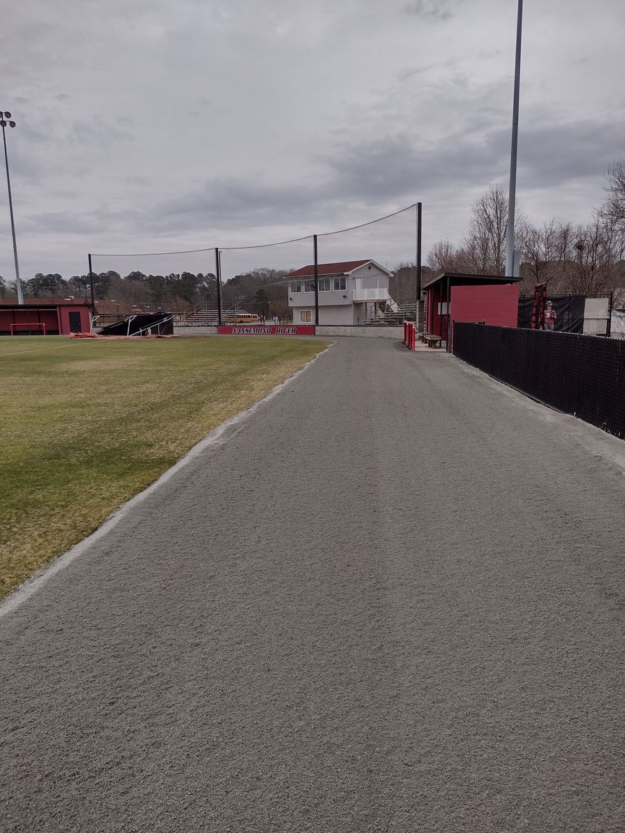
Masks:
[[[443,272],[423,287],[424,331],[440,336],[451,350],[454,321],[516,327],[519,281],[518,277]]]

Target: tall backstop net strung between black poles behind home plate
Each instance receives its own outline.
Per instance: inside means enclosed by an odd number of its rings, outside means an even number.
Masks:
[[[416,207],[278,242],[90,257],[96,328],[138,312],[178,327],[397,324],[414,314]]]

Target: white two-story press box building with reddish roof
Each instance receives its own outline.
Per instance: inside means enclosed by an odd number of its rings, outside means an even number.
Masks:
[[[315,322],[314,266],[287,275],[294,324],[365,324],[383,317],[381,302],[397,308],[388,294],[388,272],[373,260],[318,263],[319,321]],[[384,306],[384,305],[382,305]]]

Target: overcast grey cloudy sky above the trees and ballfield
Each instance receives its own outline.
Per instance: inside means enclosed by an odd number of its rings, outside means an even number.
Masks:
[[[423,202],[424,255],[509,176],[517,0],[3,0],[3,101],[22,277],[87,252],[246,246]],[[10,13],[8,12],[10,8]],[[625,157],[622,0],[526,0],[517,197],[587,222]],[[6,182],[0,275],[14,277]],[[320,240],[414,259],[414,212]],[[224,278],[311,262],[224,252]],[[213,270],[212,255],[98,272]]]

